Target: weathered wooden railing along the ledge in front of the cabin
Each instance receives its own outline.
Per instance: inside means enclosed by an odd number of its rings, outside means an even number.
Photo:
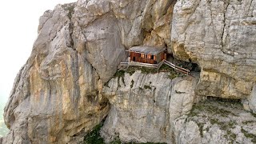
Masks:
[[[159,70],[163,64],[166,64],[167,66],[170,66],[174,70],[177,70],[183,74],[190,75],[190,70],[184,69],[181,66],[176,66],[173,63],[168,62],[166,60],[162,60],[162,62],[159,62],[158,64],[150,64],[150,63],[142,63],[142,62],[121,62],[119,66],[144,66],[149,68],[156,68]]]

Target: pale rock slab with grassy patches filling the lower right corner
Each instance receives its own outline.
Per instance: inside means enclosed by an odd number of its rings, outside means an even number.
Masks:
[[[256,117],[238,102],[207,100],[174,120],[176,143],[255,143]]]

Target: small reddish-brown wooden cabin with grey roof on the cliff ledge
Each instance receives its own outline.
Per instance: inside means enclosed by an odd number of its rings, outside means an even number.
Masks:
[[[129,62],[158,64],[163,59],[166,59],[165,47],[134,46],[127,51],[130,52]]]

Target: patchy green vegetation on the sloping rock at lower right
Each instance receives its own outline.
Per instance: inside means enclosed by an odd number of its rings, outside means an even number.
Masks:
[[[242,122],[238,121],[241,113],[249,115],[248,118],[243,118]],[[246,113],[238,100],[211,98],[204,102],[198,102],[187,114],[185,122],[190,121],[197,123],[202,138],[205,134],[210,133],[210,129],[214,130],[217,126],[218,130],[224,134],[222,136],[226,138],[226,142],[236,143],[240,133],[243,134],[242,137],[256,142],[256,131],[250,129],[256,124],[256,118],[252,114]]]

